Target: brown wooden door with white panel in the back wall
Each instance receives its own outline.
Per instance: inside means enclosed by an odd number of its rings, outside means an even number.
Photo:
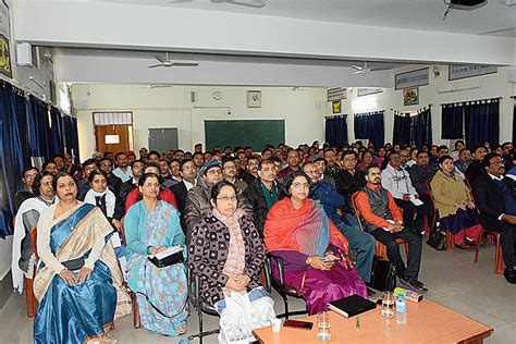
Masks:
[[[95,126],[96,149],[100,152],[133,150],[133,125],[112,124]]]

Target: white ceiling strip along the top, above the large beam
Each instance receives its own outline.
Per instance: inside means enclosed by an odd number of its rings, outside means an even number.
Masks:
[[[472,11],[452,10],[445,21],[443,14],[447,5],[444,1],[449,0],[267,0],[267,5],[261,9],[210,3],[209,0],[184,3],[170,3],[172,0],[67,1],[176,7],[369,26],[516,37],[516,5],[508,7],[504,3],[515,3],[514,0],[488,0],[486,5]]]

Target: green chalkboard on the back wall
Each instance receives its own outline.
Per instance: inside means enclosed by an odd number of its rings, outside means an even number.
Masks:
[[[261,151],[267,144],[285,142],[285,120],[205,120],[206,148],[250,146]]]

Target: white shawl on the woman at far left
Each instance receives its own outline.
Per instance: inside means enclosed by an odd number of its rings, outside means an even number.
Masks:
[[[52,200],[53,202],[53,200]],[[14,220],[14,238],[13,238],[13,253],[12,253],[12,261],[11,261],[11,273],[13,278],[13,287],[20,294],[23,293],[23,277],[24,272],[20,269],[20,258],[22,257],[22,241],[25,235],[30,235],[29,233],[25,233],[25,226],[23,224],[23,214],[28,210],[36,210],[38,213],[41,213],[48,205],[45,200],[41,200],[39,197],[32,197],[22,202],[20,209],[17,210],[16,218]],[[33,243],[36,245],[36,243]],[[33,269],[29,269],[33,271]],[[32,278],[32,277],[30,277]]]

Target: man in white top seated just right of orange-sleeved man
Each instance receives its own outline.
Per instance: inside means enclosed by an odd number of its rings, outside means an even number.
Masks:
[[[403,209],[403,223],[414,233],[422,232],[422,222],[427,211],[427,205],[416,206],[419,194],[410,182],[407,171],[402,169],[400,153],[393,151],[386,157],[386,168],[382,171],[382,186],[391,193],[396,205]],[[416,219],[414,219],[416,213]]]

